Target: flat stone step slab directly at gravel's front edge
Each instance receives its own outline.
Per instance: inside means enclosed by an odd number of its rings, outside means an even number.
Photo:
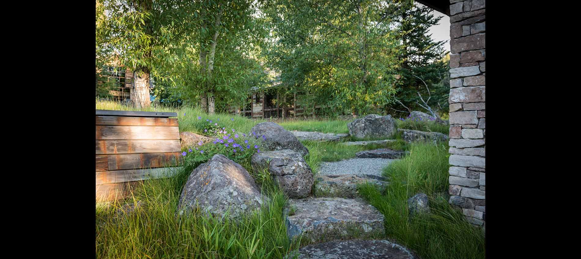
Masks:
[[[315,197],[339,197],[353,199],[358,197],[357,185],[370,183],[378,188],[388,185],[387,178],[382,176],[357,176],[343,174],[342,176],[318,175],[315,177]]]

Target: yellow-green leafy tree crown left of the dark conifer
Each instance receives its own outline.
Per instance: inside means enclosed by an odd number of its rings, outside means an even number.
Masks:
[[[336,112],[391,103],[401,45],[386,3],[277,0],[268,7],[273,40],[265,54],[289,90]]]

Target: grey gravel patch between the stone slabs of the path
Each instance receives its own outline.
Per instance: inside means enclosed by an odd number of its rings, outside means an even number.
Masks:
[[[320,174],[372,174],[381,176],[383,167],[389,165],[396,159],[386,158],[352,158],[337,162],[321,162],[319,166]]]

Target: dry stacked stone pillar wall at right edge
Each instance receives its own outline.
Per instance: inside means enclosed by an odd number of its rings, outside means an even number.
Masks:
[[[450,200],[486,220],[485,0],[450,0]]]

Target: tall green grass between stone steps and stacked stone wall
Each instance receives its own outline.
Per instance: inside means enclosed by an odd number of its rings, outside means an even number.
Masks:
[[[385,192],[361,185],[360,194],[385,216],[386,236],[421,258],[485,258],[485,236],[447,199],[449,147],[412,144],[410,155],[384,169]],[[407,199],[423,192],[431,213],[410,218]]]

